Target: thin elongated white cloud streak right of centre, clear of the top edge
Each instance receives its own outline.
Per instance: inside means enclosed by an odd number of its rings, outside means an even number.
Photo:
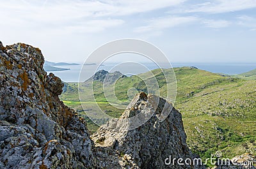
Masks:
[[[136,27],[134,32],[143,33],[148,31],[159,31],[169,27],[180,26],[182,24],[188,24],[194,22],[198,18],[196,17],[177,17],[177,16],[166,16],[161,18],[154,18],[148,20],[147,26]]]

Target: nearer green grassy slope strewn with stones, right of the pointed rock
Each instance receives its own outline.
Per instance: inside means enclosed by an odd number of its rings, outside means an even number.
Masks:
[[[236,81],[209,87],[178,103],[189,147],[201,156],[218,150],[229,158],[255,154],[255,95],[255,81]]]

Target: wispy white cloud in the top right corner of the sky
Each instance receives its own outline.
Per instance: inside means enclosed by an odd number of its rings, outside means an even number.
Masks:
[[[225,13],[231,11],[240,11],[250,8],[256,8],[256,0],[214,0],[207,3],[196,4],[187,12],[204,12],[204,13]]]

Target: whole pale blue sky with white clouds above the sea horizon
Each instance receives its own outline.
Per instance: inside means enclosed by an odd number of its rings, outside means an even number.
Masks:
[[[256,0],[0,0],[0,40],[45,59],[83,62],[108,41],[136,38],[171,62],[256,62]]]

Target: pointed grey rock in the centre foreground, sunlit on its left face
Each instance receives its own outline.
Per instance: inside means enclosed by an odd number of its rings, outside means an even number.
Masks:
[[[164,105],[166,108],[164,111],[170,111],[165,120],[161,119]],[[100,166],[106,168],[204,168],[164,163],[164,160],[170,156],[193,160],[195,155],[186,145],[181,114],[163,98],[147,96],[141,92],[132,100],[120,119],[140,113],[150,114],[150,110],[156,110],[156,112],[139,128],[125,131],[124,128],[129,128],[130,122],[123,124],[113,120],[101,126],[91,136],[96,144],[97,156],[95,157],[102,161]],[[106,153],[109,156],[106,156]]]

